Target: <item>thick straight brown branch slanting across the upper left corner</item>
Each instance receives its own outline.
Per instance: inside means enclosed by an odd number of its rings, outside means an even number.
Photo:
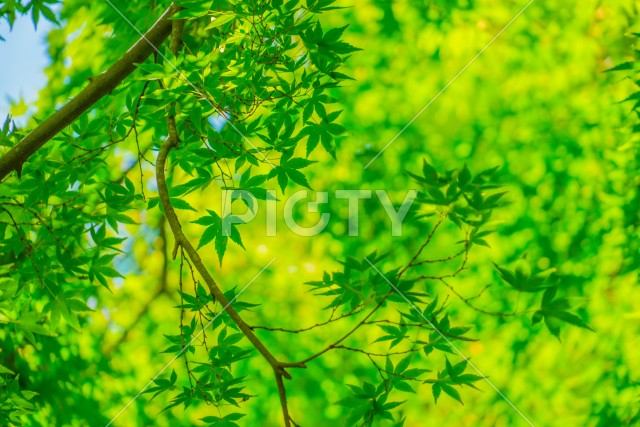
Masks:
[[[144,62],[157,49],[157,46],[167,39],[171,33],[170,18],[179,10],[180,7],[172,3],[149,31],[140,37],[119,60],[100,75],[90,79],[89,84],[75,98],[50,115],[0,157],[0,181],[14,170],[20,177],[22,165],[33,153],[105,95],[111,93],[136,69],[136,64]]]

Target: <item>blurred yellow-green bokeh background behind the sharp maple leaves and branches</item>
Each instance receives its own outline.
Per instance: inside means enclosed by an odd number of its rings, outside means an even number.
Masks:
[[[474,250],[470,268],[456,280],[456,288],[472,296],[492,284],[477,304],[509,312],[524,302],[500,283],[491,262],[510,265],[524,259],[542,270],[555,268],[563,291],[596,332],[564,327],[556,339],[543,325],[532,326],[531,316],[485,316],[451,298],[452,319],[472,326],[472,335],[479,340],[462,343],[460,349],[535,425],[638,422],[638,117],[633,102],[621,102],[637,89],[631,71],[607,70],[634,59],[640,2],[534,1],[367,169],[364,166],[378,150],[525,2],[341,4],[347,8],[324,16],[326,26],[349,24],[346,39],[363,51],[348,61],[346,72],[355,80],[333,93],[344,110],[341,118],[347,129],[338,159],[318,151],[313,154],[319,163],[309,169],[312,187],[330,192],[385,189],[400,202],[415,186],[406,171],[418,170],[423,158],[441,169],[465,163],[474,171],[500,166],[498,176],[508,190],[509,205],[497,212],[496,233],[487,239],[491,247]],[[122,50],[137,37],[104,4],[64,2],[60,13],[61,26],[49,24],[43,30],[42,24],[36,33],[30,23],[21,23],[16,25],[24,34],[20,37],[8,34],[6,27],[0,33],[7,39],[0,42],[2,108],[18,120],[26,122],[30,114],[50,110],[68,96],[64,87],[81,84],[103,70],[111,54],[103,54],[97,46],[117,51],[119,45]],[[153,19],[148,17],[147,26]],[[117,40],[109,36],[112,28],[118,29]],[[44,56],[38,54],[40,43],[46,48]],[[23,53],[3,45],[22,46]],[[25,57],[32,61],[21,62]],[[44,80],[34,74],[38,69]],[[134,150],[135,146],[119,147],[114,169],[126,169],[135,158]],[[153,175],[146,167],[142,183],[152,193]],[[118,173],[114,170],[114,176]],[[132,181],[140,180],[138,171],[132,171]],[[188,200],[201,210],[220,206],[215,188]],[[212,249],[203,252],[225,288],[243,286],[276,257],[241,298],[261,304],[248,314],[250,323],[304,327],[322,321],[327,301],[311,295],[305,282],[320,280],[324,270],[338,268],[338,261],[347,255],[358,258],[377,250],[400,265],[416,249],[413,233],[418,231],[405,229],[402,236],[392,238],[375,197],[362,203],[358,237],[347,235],[345,201],[331,199],[326,209],[333,215],[330,226],[314,238],[297,236],[283,223],[276,237],[266,237],[262,211],[247,226],[251,228],[243,230],[246,251],[230,246],[221,267]],[[199,216],[181,214],[185,222]],[[64,399],[67,386],[56,384],[52,374],[50,387],[39,392],[58,393],[61,398],[57,408],[42,413],[43,425],[47,420],[56,425],[106,423],[172,357],[161,351],[168,347],[164,334],[178,329],[177,265],[171,263],[163,273],[167,249],[158,213],[136,215],[141,225],[121,229],[127,240],[116,267],[124,278],[113,281],[112,292],[102,290],[100,298],[88,301],[95,311],[84,331],[69,338],[74,345],[59,350],[66,374],[86,399]],[[317,219],[314,214],[300,215],[303,223]],[[188,230],[192,236],[199,231]],[[453,229],[445,230],[432,254],[447,253],[458,238]],[[427,289],[442,298],[447,291],[437,286]],[[301,359],[348,327],[346,323],[308,334],[261,336],[276,353]],[[351,342],[364,346],[371,340],[360,334]],[[428,360],[424,363],[429,366]],[[172,368],[184,369],[180,361]],[[268,366],[253,358],[241,370],[247,375],[248,391],[256,396],[242,408],[247,415],[241,423],[278,425],[280,408]],[[339,424],[345,408],[336,402],[346,395],[345,384],[372,376],[375,370],[365,356],[328,353],[287,383],[291,411],[301,425]],[[416,394],[399,396],[398,400],[406,400],[399,410],[406,416],[404,425],[525,425],[487,384],[478,385],[481,391],[463,392],[464,406],[446,396],[434,404],[426,384]],[[212,412],[206,406],[161,412],[167,398],[148,402],[143,396],[117,425],[186,426]]]

